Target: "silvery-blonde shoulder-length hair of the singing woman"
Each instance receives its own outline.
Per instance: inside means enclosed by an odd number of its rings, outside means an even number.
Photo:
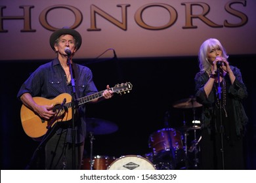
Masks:
[[[200,71],[205,71],[208,74],[211,73],[211,63],[207,59],[207,53],[208,53],[208,50],[217,49],[217,48],[221,49],[222,57],[227,59],[228,55],[226,54],[226,50],[224,49],[221,42],[217,39],[214,39],[214,38],[207,39],[200,46],[200,50],[198,53]]]

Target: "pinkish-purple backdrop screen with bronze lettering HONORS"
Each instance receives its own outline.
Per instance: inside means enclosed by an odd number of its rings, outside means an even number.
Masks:
[[[53,58],[49,37],[64,26],[81,33],[81,59],[113,50],[118,58],[195,56],[209,37],[228,54],[256,54],[255,7],[254,0],[1,0],[0,60]]]

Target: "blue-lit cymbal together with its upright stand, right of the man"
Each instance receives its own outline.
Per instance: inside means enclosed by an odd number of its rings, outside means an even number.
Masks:
[[[114,133],[117,131],[118,127],[113,122],[106,120],[96,119],[96,118],[86,118],[86,127],[89,131],[90,138],[90,168],[93,170],[93,141],[95,140],[94,135],[105,135],[109,133]]]

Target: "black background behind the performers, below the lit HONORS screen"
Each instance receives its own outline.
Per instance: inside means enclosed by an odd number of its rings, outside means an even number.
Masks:
[[[244,100],[249,117],[244,138],[247,169],[256,169],[256,90],[255,55],[231,55],[230,65],[237,66],[247,86],[249,96]],[[20,122],[22,103],[16,99],[21,84],[39,65],[49,60],[1,61],[1,169],[24,169],[38,142],[26,136]],[[131,82],[133,88],[125,95],[102,103],[88,104],[87,117],[113,122],[114,133],[95,135],[93,154],[120,156],[148,154],[152,151],[148,140],[152,133],[165,128],[165,112],[169,112],[169,127],[179,129],[185,121],[192,125],[191,108],[173,108],[173,103],[194,95],[194,76],[198,72],[196,56],[172,58],[74,59],[92,71],[99,91],[107,84],[114,87]],[[200,107],[196,120],[200,120]],[[188,145],[194,131],[188,133]],[[197,130],[197,133],[200,131]],[[89,138],[85,152],[89,153]]]

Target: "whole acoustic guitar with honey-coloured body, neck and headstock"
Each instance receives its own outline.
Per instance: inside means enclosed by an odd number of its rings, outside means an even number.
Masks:
[[[132,90],[133,85],[130,82],[116,84],[112,90],[115,93],[129,93]],[[88,103],[93,99],[97,99],[102,97],[101,92],[96,92],[91,95],[87,95],[85,97],[81,97],[75,101],[76,105],[83,105],[84,103]],[[47,130],[53,127],[56,122],[66,122],[72,119],[72,96],[69,93],[62,93],[55,97],[54,99],[45,99],[44,97],[33,97],[35,103],[39,105],[53,105],[53,111],[56,112],[56,115],[49,120],[43,120],[40,118],[35,112],[33,112],[30,108],[22,105],[20,110],[20,118],[22,122],[22,127],[29,137],[33,139],[38,139],[47,133]]]

